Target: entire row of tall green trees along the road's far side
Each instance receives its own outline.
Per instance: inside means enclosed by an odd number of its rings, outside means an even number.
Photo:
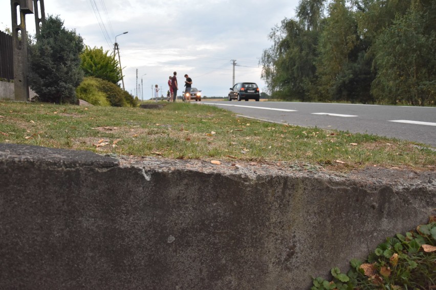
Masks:
[[[269,39],[273,98],[436,105],[434,0],[300,0]]]

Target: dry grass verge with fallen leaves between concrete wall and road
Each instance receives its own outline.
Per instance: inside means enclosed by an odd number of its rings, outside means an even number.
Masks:
[[[185,103],[147,110],[0,101],[0,142],[102,154],[286,161],[334,170],[436,168],[436,153],[410,142],[260,122]]]

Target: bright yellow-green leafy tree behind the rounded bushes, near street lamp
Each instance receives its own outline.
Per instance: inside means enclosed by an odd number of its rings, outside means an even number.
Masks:
[[[103,47],[91,49],[86,46],[80,55],[81,67],[85,77],[96,77],[108,82],[118,84],[121,81],[121,69],[118,61],[103,51]]]

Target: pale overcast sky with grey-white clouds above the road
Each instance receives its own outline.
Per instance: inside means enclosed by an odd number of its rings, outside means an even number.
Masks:
[[[91,47],[112,52],[115,36],[128,31],[117,37],[125,89],[136,94],[138,69],[145,100],[151,98],[155,84],[166,95],[168,77],[175,70],[179,83],[184,84],[188,74],[203,95],[227,96],[233,59],[235,82],[256,82],[264,91],[259,58],[272,44],[271,29],[285,17],[294,17],[298,0],[45,0],[44,4],[46,16],[59,15],[64,26],[75,29]],[[26,16],[31,34],[34,22],[32,14]],[[10,1],[2,1],[0,30],[11,28],[11,23]],[[141,93],[139,89],[140,99]]]

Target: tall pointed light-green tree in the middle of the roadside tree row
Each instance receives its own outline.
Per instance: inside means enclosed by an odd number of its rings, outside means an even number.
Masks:
[[[357,33],[355,14],[345,0],[331,2],[317,48],[322,101],[372,102],[369,88],[374,77],[371,63],[365,61],[366,49]]]

